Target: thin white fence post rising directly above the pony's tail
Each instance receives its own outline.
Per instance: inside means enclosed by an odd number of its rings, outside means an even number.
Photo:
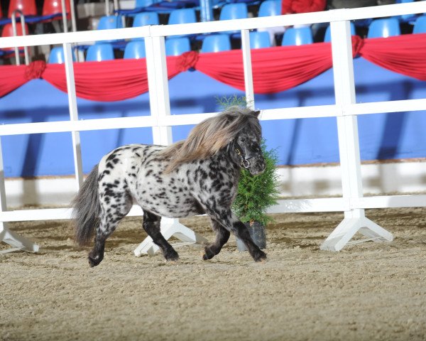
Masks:
[[[67,77],[68,105],[70,107],[70,121],[78,121],[77,94],[75,93],[74,65],[72,64],[72,50],[70,43],[64,43],[65,75]],[[83,183],[82,148],[80,145],[80,132],[71,131],[72,152],[74,155],[75,179],[77,191]]]

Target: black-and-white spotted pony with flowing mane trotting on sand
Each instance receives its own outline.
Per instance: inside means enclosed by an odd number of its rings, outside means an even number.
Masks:
[[[215,241],[204,248],[204,260],[219,254],[230,232],[255,261],[266,259],[231,212],[240,168],[253,175],[265,170],[258,114],[230,107],[195,126],[184,141],[167,147],[131,144],[104,156],[72,201],[75,241],[89,244],[96,230],[89,265],[102,261],[107,238],[133,203],[142,207],[143,229],[168,261],[179,256],[160,233],[160,217],[201,214],[209,215],[216,232]]]

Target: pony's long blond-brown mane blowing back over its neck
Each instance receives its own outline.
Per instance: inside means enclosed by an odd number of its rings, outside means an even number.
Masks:
[[[229,107],[221,114],[205,119],[190,131],[186,140],[160,151],[164,158],[170,158],[166,172],[173,171],[182,163],[205,159],[226,147],[244,129],[250,129],[261,136],[258,112],[243,107]]]

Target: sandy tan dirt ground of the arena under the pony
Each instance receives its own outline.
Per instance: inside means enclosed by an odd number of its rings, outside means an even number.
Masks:
[[[426,210],[366,213],[395,240],[320,251],[341,213],[275,215],[261,264],[234,237],[211,261],[135,257],[131,217],[91,269],[70,222],[11,224],[40,252],[0,256],[0,340],[426,340]],[[181,221],[213,240],[207,218]]]

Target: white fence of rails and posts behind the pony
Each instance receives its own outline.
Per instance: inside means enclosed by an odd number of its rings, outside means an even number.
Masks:
[[[280,200],[279,205],[270,212],[344,212],[344,220],[324,241],[321,248],[337,251],[349,240],[361,232],[368,240],[383,242],[392,240],[392,234],[365,217],[366,208],[375,207],[419,207],[426,206],[425,195],[393,195],[364,197],[362,192],[357,115],[380,114],[384,112],[405,112],[426,110],[426,99],[410,99],[393,102],[355,103],[353,61],[351,54],[351,34],[349,21],[362,18],[380,18],[412,13],[426,13],[426,1],[408,4],[394,4],[360,9],[338,9],[315,13],[302,13],[286,16],[248,18],[236,21],[212,21],[203,23],[180,24],[173,26],[143,26],[120,28],[116,30],[87,31],[75,33],[56,33],[38,36],[0,38],[0,48],[62,44],[65,48],[65,69],[70,103],[70,120],[58,122],[40,122],[32,124],[7,124],[0,126],[0,136],[15,134],[40,134],[70,131],[75,153],[76,188],[82,182],[81,152],[79,131],[98,129],[119,129],[151,126],[154,144],[170,144],[171,126],[197,124],[209,114],[185,114],[170,116],[170,99],[165,63],[165,36],[193,33],[210,33],[229,30],[241,30],[246,78],[246,97],[252,100],[253,81],[251,79],[251,54],[249,30],[274,26],[291,26],[302,23],[331,23],[332,58],[334,70],[334,105],[316,107],[268,109],[263,110],[262,120],[300,119],[312,117],[337,117],[339,135],[339,155],[342,169],[343,197],[309,200]],[[128,117],[116,119],[79,120],[75,98],[75,82],[71,63],[71,46],[74,43],[87,43],[96,40],[130,39],[145,37],[146,60],[148,67],[148,86],[150,90],[150,117]],[[137,70],[135,70],[137,72]],[[0,99],[1,101],[1,99]],[[0,154],[1,156],[1,154]],[[38,246],[9,231],[7,222],[23,220],[69,219],[71,210],[18,210],[6,209],[4,193],[3,164],[0,158],[0,240],[18,249],[37,251]],[[141,210],[133,207],[130,215],[140,215]]]

